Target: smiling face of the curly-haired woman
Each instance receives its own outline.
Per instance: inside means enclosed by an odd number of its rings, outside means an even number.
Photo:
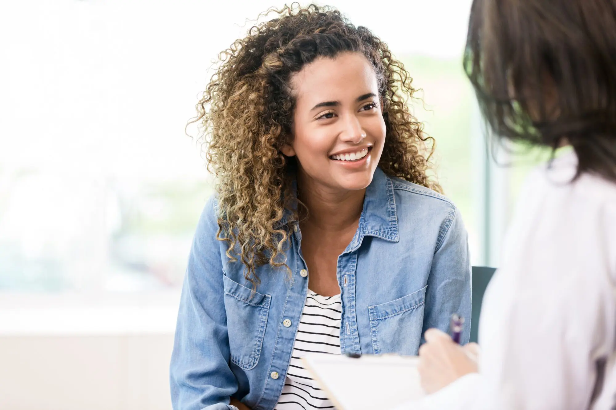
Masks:
[[[291,79],[293,143],[302,180],[326,190],[370,185],[385,143],[376,74],[359,53],[317,58]]]

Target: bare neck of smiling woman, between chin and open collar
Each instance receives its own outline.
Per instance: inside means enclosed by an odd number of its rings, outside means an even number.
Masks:
[[[308,208],[303,221],[323,231],[342,231],[357,224],[366,190],[341,191],[324,187],[298,172],[299,199]]]

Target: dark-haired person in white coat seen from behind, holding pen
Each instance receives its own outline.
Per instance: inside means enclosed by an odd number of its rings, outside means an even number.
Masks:
[[[478,371],[476,346],[428,330],[433,394],[402,408],[615,409],[616,2],[475,0],[464,68],[495,135],[570,151],[520,194]]]

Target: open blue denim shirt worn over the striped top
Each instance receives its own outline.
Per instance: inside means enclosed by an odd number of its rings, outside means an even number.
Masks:
[[[197,226],[171,358],[176,410],[227,410],[230,396],[271,410],[285,384],[310,274],[292,225],[285,269],[257,268],[253,292],[240,262],[225,255],[212,198]],[[460,213],[444,196],[376,169],[359,227],[338,257],[342,353],[416,355],[428,328],[466,318],[471,268]]]

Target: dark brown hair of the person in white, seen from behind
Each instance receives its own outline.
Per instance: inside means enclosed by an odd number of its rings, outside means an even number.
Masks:
[[[496,137],[616,182],[614,0],[474,0],[464,70]]]

